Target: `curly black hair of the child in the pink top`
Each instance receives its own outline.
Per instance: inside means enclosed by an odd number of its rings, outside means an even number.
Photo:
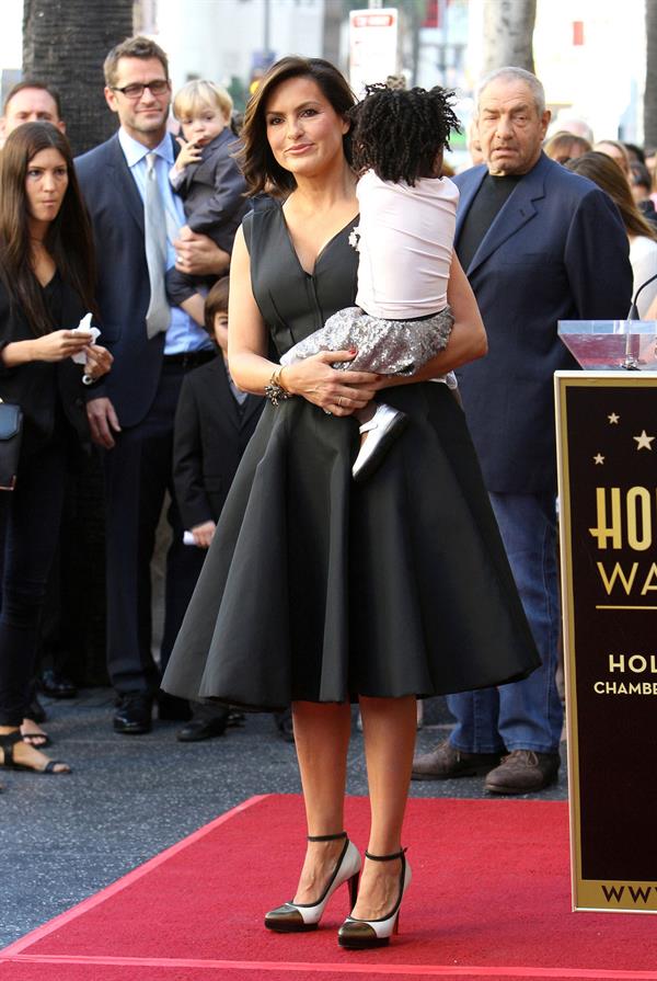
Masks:
[[[367,85],[365,99],[349,110],[356,171],[373,170],[382,181],[411,185],[433,175],[438,155],[449,149],[450,134],[461,130],[453,95],[439,85]]]

